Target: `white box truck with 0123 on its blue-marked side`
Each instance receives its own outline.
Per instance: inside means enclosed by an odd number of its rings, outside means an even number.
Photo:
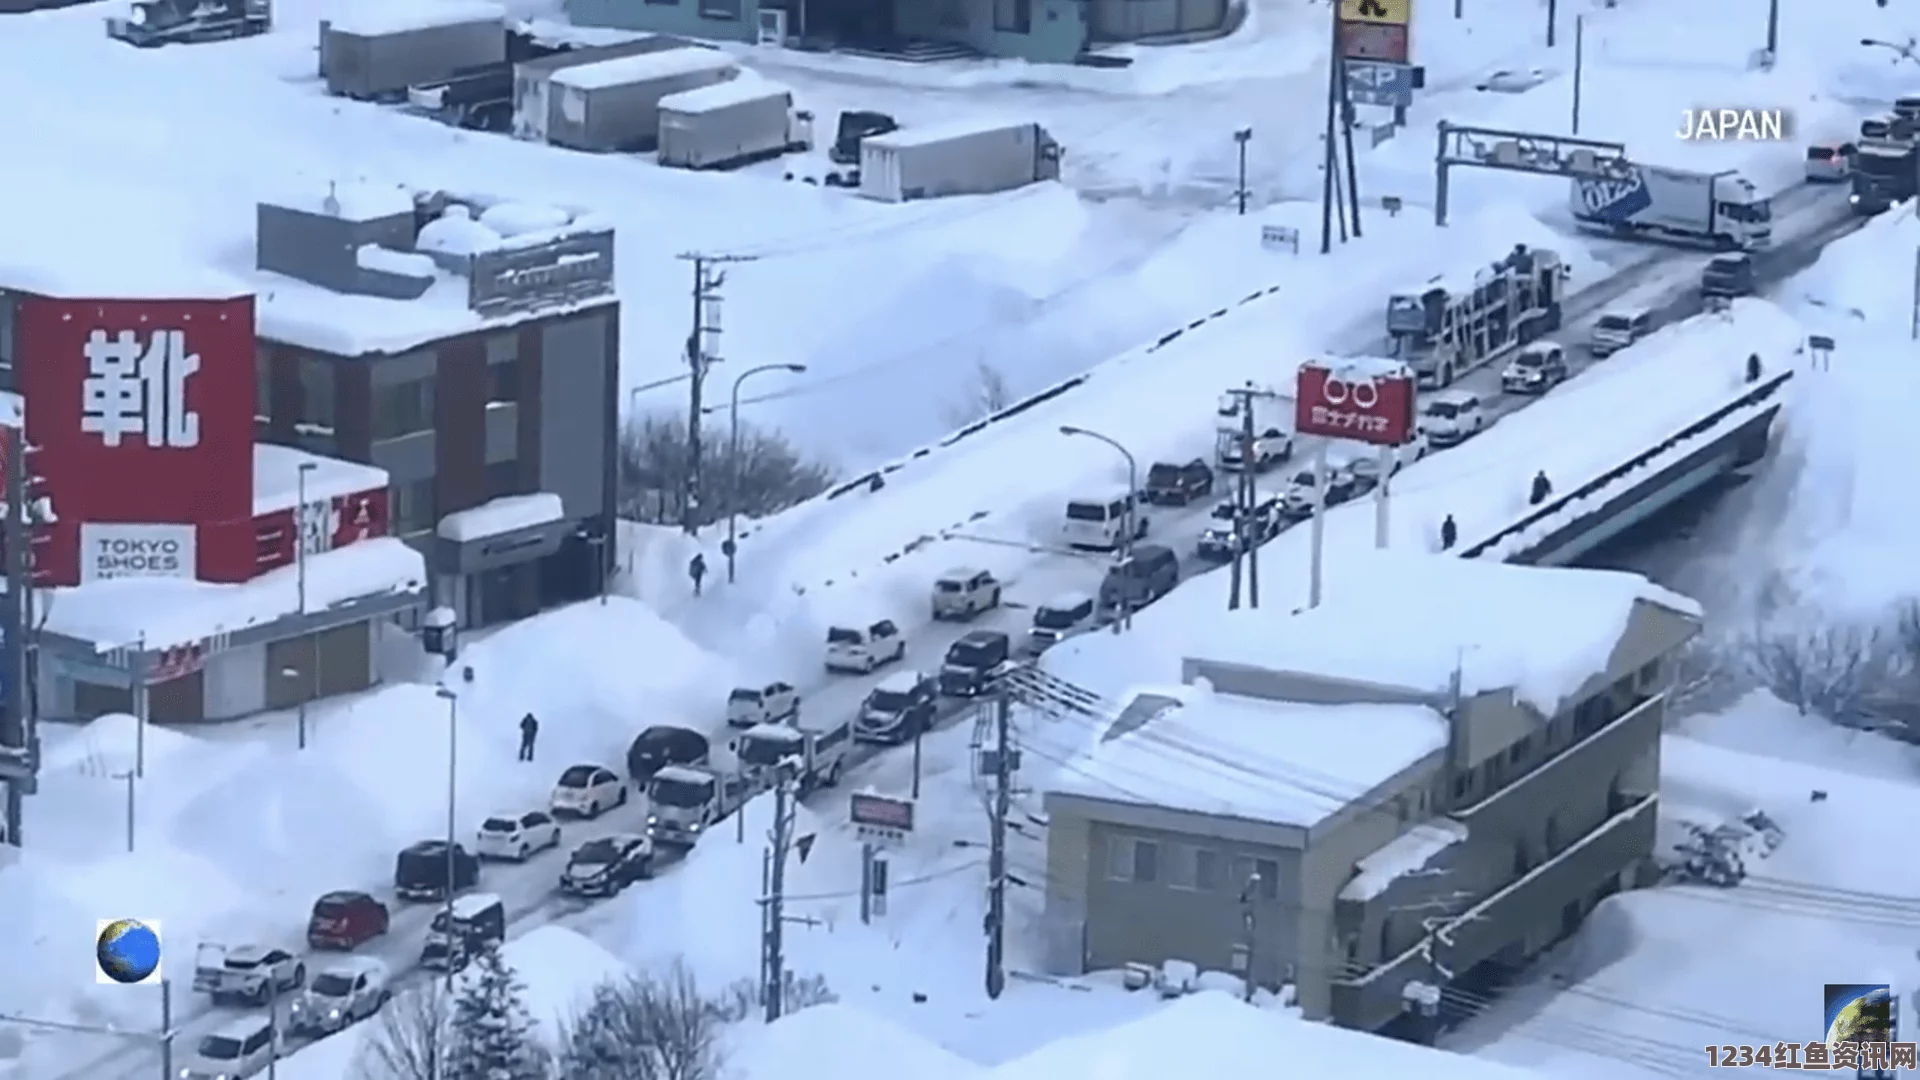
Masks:
[[[1661,236],[1741,252],[1772,242],[1772,200],[1738,171],[1628,167],[1628,179],[1572,181],[1569,208],[1574,223],[1590,233]]]

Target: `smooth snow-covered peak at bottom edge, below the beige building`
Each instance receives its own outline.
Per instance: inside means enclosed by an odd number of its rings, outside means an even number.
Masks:
[[[987,1080],[1165,1080],[1169,1076],[1419,1076],[1421,1080],[1544,1080],[1482,1057],[1367,1032],[1311,1024],[1217,990],[1171,1001],[1137,1020],[1050,1042],[987,1072]]]

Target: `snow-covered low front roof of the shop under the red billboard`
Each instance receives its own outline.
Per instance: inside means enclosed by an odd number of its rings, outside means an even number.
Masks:
[[[298,573],[300,567],[280,567],[246,584],[115,578],[54,588],[46,590],[46,628],[94,642],[100,651],[140,642],[148,650],[190,646],[298,613]],[[313,555],[305,577],[307,611],[426,588],[420,553],[388,536]]]

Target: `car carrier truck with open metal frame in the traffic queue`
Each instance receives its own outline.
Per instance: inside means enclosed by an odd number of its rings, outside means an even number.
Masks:
[[[1561,329],[1565,290],[1559,252],[1515,244],[1471,279],[1440,277],[1388,298],[1386,336],[1421,386],[1440,388]]]

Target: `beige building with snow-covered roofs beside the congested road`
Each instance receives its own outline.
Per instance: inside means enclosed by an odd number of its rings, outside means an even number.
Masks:
[[[1309,1019],[1419,1034],[1409,986],[1517,969],[1642,880],[1697,607],[1636,575],[1428,555],[1365,578],[1187,626],[1177,682],[1098,719],[1046,794],[1060,969],[1250,967]],[[1089,638],[1068,667],[1116,694],[1102,648],[1129,646]]]

